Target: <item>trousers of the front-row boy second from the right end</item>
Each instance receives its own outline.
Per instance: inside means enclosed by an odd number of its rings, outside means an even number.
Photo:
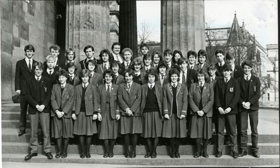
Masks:
[[[224,147],[224,128],[225,121],[227,121],[228,132],[230,134],[231,151],[237,152],[237,138],[236,138],[236,114],[218,114],[218,151],[222,152]]]

